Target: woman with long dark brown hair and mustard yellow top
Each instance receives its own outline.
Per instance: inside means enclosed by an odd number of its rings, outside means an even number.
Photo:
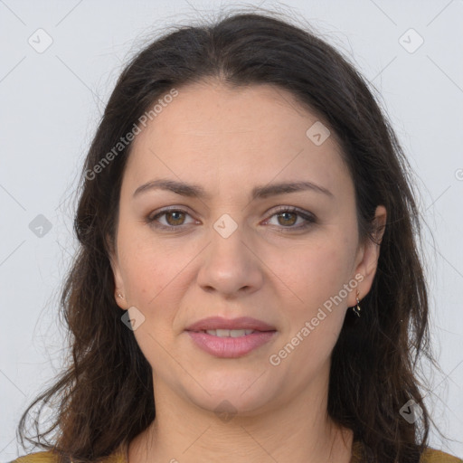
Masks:
[[[75,231],[72,361],[20,422],[24,442],[60,397],[37,430],[57,437],[17,462],[462,461],[427,447],[407,162],[315,34],[234,14],[149,44],[99,124]]]

